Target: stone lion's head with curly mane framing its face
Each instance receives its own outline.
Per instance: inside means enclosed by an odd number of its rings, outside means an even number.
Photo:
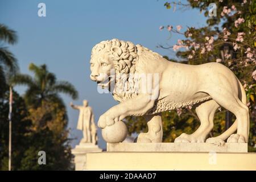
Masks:
[[[137,60],[137,48],[133,43],[118,39],[102,41],[92,49],[90,78],[97,81],[102,88],[109,88],[114,84],[115,100],[126,100],[126,97],[131,98],[131,94],[126,94],[125,90],[117,93],[116,88],[122,85],[124,80],[129,80],[129,73],[135,73]]]

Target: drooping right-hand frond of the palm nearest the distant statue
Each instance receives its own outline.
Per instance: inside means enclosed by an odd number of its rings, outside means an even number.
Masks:
[[[73,99],[77,99],[78,98],[78,92],[75,89],[75,86],[73,86],[68,81],[58,81],[58,82],[56,82],[56,84],[52,86],[51,91],[52,92],[61,92],[61,93],[64,93],[64,94],[68,94]]]

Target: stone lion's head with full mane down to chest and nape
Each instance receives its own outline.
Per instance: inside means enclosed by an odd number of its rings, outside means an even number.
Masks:
[[[137,96],[138,80],[133,75],[137,62],[143,57],[146,60],[162,57],[149,49],[118,39],[106,40],[98,43],[92,49],[90,59],[90,78],[97,81],[102,88],[110,89],[114,85],[114,99],[122,102]],[[118,90],[118,91],[117,91]]]

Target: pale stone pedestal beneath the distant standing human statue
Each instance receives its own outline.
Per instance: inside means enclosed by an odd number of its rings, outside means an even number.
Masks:
[[[101,152],[102,149],[93,143],[80,143],[74,149],[72,154],[75,155],[75,170],[81,171],[86,166],[86,153]]]

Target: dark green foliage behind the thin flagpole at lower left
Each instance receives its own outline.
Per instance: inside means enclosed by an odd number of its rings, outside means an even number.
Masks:
[[[16,92],[13,92],[13,169],[19,168],[20,160],[24,157],[27,143],[26,135],[30,133],[31,121],[26,119],[28,112],[26,105]],[[9,90],[6,88],[5,96],[0,98],[0,169],[8,169],[8,147],[9,147]]]

